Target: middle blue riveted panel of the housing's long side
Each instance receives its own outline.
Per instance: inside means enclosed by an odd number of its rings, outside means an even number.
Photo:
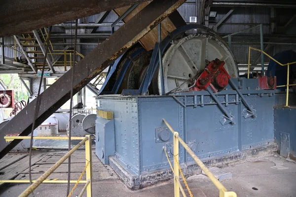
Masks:
[[[237,122],[237,106],[231,104],[226,109]],[[219,121],[222,115],[217,105],[186,107],[186,142],[196,141],[195,154],[203,160],[238,150],[238,124],[222,125]],[[186,158],[193,162],[189,154]]]

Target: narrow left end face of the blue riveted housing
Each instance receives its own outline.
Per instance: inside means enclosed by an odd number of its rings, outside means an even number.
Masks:
[[[139,174],[140,141],[137,99],[131,97],[102,98],[97,109],[113,112],[115,156],[131,172]]]

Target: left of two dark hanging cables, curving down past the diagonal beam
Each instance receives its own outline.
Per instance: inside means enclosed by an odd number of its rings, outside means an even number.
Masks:
[[[44,60],[43,60],[43,66],[42,66],[42,72],[41,72],[41,77],[40,77],[40,82],[39,82],[39,88],[38,88],[38,94],[36,98],[36,103],[35,103],[35,109],[34,109],[34,118],[33,118],[33,123],[32,123],[32,130],[31,130],[31,139],[30,139],[30,151],[29,151],[29,179],[30,179],[30,184],[32,184],[32,173],[31,173],[31,165],[32,165],[32,147],[33,147],[33,133],[35,129],[35,121],[37,119],[37,114],[39,111],[39,101],[40,101],[40,91],[41,91],[41,86],[42,86],[42,80],[43,80],[43,74],[44,74],[44,69],[45,69],[45,63],[46,63],[46,58],[47,58],[47,53],[48,53],[48,47],[49,47],[49,39],[51,35],[51,29],[52,26],[49,28],[48,32],[48,37],[46,40],[46,49],[45,49],[45,54],[44,54]],[[34,197],[34,193],[33,197]]]

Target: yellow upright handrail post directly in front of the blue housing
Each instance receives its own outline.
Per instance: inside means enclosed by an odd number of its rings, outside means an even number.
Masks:
[[[175,197],[180,197],[180,188],[177,179],[179,180],[179,141],[177,139],[178,132],[174,132],[174,188],[175,188]]]

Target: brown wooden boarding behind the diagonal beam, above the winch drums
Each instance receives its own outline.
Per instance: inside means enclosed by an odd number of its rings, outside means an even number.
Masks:
[[[144,7],[146,7],[150,1],[143,2],[139,4],[133,11],[131,11],[122,21],[126,23],[129,21],[132,17],[134,17],[138,12],[140,12]],[[122,15],[130,6],[120,7],[117,9],[114,9],[113,11],[118,16]],[[168,36],[169,32],[172,32],[176,29],[174,23],[169,19],[165,18],[161,22],[161,39],[164,39]],[[151,50],[154,48],[155,43],[158,42],[158,28],[153,28],[146,36],[144,36],[142,39],[140,39],[140,43],[143,45],[143,47],[146,50]]]

